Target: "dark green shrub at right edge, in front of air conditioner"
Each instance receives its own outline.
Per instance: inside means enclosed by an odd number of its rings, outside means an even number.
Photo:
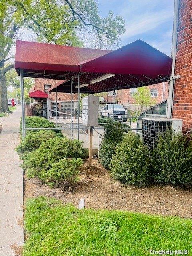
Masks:
[[[168,130],[158,137],[152,167],[156,182],[192,184],[192,144],[182,134]]]

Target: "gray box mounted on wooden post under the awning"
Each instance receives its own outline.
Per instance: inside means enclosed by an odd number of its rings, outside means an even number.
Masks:
[[[98,126],[99,97],[88,95],[82,98],[82,123],[86,126]]]

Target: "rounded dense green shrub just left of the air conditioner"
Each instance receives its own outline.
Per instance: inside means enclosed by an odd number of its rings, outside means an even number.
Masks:
[[[112,157],[110,172],[124,184],[145,185],[150,178],[148,149],[139,135],[128,132]]]

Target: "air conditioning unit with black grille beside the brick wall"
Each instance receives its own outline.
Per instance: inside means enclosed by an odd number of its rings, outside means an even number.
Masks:
[[[143,143],[151,150],[157,144],[158,136],[169,128],[175,132],[182,131],[182,119],[173,118],[142,118],[142,140]]]

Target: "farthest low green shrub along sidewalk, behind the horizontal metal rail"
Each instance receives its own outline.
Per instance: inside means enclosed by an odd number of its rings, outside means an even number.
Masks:
[[[46,118],[38,117],[38,116],[26,116],[25,122],[26,122],[26,127],[34,127],[34,128],[39,128],[39,127],[44,127],[44,128],[55,127],[53,122],[50,122]],[[22,120],[20,122],[20,130],[22,132]],[[37,131],[38,130],[30,130],[30,131],[27,131],[27,134],[29,132],[37,132]],[[61,134],[61,130],[54,130],[54,132]]]

